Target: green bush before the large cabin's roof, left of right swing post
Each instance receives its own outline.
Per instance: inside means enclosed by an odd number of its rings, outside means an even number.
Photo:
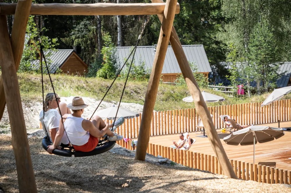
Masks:
[[[141,60],[141,58],[139,60],[138,65],[135,65],[134,61],[132,63],[128,78],[131,80],[137,80],[137,81],[148,81],[150,79],[151,69],[146,68],[145,61]],[[126,69],[120,73],[121,79],[126,79],[130,62],[131,61],[129,59],[129,61],[127,61],[126,63]]]

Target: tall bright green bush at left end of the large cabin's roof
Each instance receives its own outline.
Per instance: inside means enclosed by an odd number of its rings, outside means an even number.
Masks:
[[[97,71],[96,76],[104,79],[112,79],[116,76],[119,64],[117,63],[116,48],[112,43],[111,36],[107,33],[102,37],[104,47],[101,50],[103,55],[102,67]]]

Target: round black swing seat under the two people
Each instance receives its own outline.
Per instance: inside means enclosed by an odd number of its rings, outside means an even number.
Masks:
[[[45,136],[42,139],[42,147],[44,150],[47,151],[47,146],[52,145],[51,141],[49,141],[49,138]],[[77,152],[72,150],[70,147],[64,147],[61,150],[55,149],[53,150],[53,154],[58,156],[64,156],[64,157],[72,157],[74,155],[75,157],[86,157],[86,156],[93,156],[102,154],[104,152],[107,152],[111,150],[115,145],[115,141],[100,141],[97,145],[97,147],[92,150],[91,152]]]

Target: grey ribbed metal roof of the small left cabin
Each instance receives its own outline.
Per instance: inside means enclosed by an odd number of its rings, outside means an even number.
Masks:
[[[57,68],[60,68],[61,65],[64,63],[64,61],[72,54],[74,50],[47,50],[44,52],[45,57],[47,55],[50,55],[49,57],[46,57],[46,61],[50,60],[52,63],[49,65],[49,73],[54,74],[57,70]],[[31,64],[35,67],[39,67],[40,60],[33,60],[31,61]],[[44,60],[42,60],[43,65],[45,65]]]

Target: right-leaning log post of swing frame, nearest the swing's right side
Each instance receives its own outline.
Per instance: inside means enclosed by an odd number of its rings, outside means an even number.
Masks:
[[[157,44],[157,50],[155,54],[154,63],[152,66],[152,72],[150,74],[150,80],[148,82],[148,88],[145,93],[145,103],[143,108],[143,116],[141,118],[141,127],[139,130],[139,143],[136,147],[136,160],[145,160],[145,154],[147,144],[150,139],[150,122],[156,102],[157,90],[159,87],[159,80],[161,78],[164,60],[168,49],[171,28],[175,17],[175,8],[177,0],[168,0],[165,7],[165,17],[163,18],[159,40]]]

